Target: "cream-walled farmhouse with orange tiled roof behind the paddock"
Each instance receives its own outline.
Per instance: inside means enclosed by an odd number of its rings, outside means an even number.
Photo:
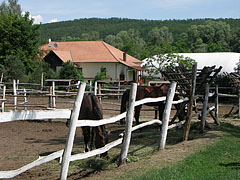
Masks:
[[[41,47],[46,51],[44,60],[55,71],[63,62],[73,62],[82,71],[85,80],[94,79],[98,72],[107,71],[112,80],[135,81],[142,71],[140,60],[103,41],[49,41]]]

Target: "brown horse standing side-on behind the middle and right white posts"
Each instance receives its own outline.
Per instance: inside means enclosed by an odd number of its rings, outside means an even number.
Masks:
[[[157,98],[166,96],[168,93],[169,86],[167,84],[162,84],[160,86],[138,86],[137,87],[137,94],[136,94],[136,101],[144,99],[144,98]],[[121,110],[120,113],[123,113],[126,111],[126,106],[129,101],[129,93],[130,90],[126,90],[123,93],[122,99],[121,99]],[[177,95],[174,96],[174,100],[179,100],[179,97]],[[165,104],[163,102],[155,102],[155,103],[147,103],[145,104],[147,106],[157,106],[159,111],[159,119],[162,120],[163,111]],[[180,109],[179,105],[175,105],[176,109]],[[141,111],[142,105],[135,107],[135,114],[134,117],[136,119],[136,123],[139,124],[139,115]],[[178,116],[180,120],[184,120],[185,114],[180,113]],[[120,121],[121,124],[123,124],[123,119]]]

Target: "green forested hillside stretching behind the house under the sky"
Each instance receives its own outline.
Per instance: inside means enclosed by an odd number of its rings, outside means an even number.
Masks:
[[[44,43],[103,40],[139,59],[169,52],[240,52],[240,19],[89,18],[42,24]]]

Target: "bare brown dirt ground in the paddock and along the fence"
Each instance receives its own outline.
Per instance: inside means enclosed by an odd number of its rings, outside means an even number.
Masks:
[[[40,102],[43,99],[32,99],[32,101]],[[60,101],[73,101],[73,99],[60,99]],[[103,102],[106,100],[103,100]],[[118,100],[112,100],[112,102]],[[109,102],[109,100],[108,100]],[[72,104],[57,104],[57,108],[72,108]],[[118,108],[111,104],[103,104],[103,108]],[[149,107],[148,107],[149,109]],[[229,108],[220,107],[220,120],[231,121],[232,119],[223,118],[223,115],[229,111]],[[104,117],[112,117],[119,114],[119,111],[104,110]],[[153,111],[142,111],[141,120],[146,120],[147,117],[153,118]],[[239,121],[231,121],[235,125],[240,125]],[[122,126],[118,123],[111,127],[121,129]],[[9,123],[0,123],[0,170],[18,169],[38,158],[39,155],[58,151],[65,147],[68,128],[65,126],[65,121],[18,121]],[[117,136],[112,134],[111,136]],[[120,168],[112,168],[111,170],[98,171],[86,175],[84,172],[69,174],[68,179],[121,179],[122,174],[129,172],[137,174],[146,168],[164,167],[184,159],[191,153],[204,149],[204,145],[216,141],[221,136],[221,132],[210,130],[199,135],[199,138],[182,142],[174,145],[167,145],[166,149],[155,153],[148,159],[138,162],[132,162]],[[110,138],[111,140],[111,138]],[[82,148],[82,149],[81,149]],[[74,149],[83,151],[83,139],[81,128],[77,129]],[[58,179],[60,174],[60,165],[57,161],[49,162],[38,167],[35,167],[13,179]]]

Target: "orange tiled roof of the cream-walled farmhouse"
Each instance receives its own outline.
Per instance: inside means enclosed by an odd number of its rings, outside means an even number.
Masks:
[[[62,61],[73,62],[120,62],[129,67],[138,67],[142,61],[126,55],[123,60],[123,52],[105,43],[104,41],[71,41],[50,42],[41,47],[42,50],[52,50]]]

